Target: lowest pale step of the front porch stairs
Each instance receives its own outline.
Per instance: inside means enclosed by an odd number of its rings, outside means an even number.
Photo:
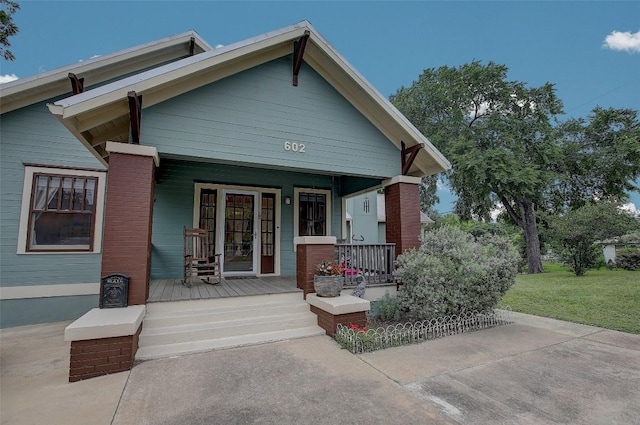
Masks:
[[[136,353],[136,360],[151,360],[171,356],[203,353],[248,345],[265,344],[269,342],[286,341],[290,339],[307,338],[324,335],[324,330],[315,325],[304,328],[286,329],[257,334],[182,342],[177,344],[153,345],[140,347]]]

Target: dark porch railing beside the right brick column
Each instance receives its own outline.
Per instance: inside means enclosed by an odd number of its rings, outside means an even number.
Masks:
[[[396,244],[337,244],[334,256],[346,268],[345,285],[357,285],[359,276],[367,285],[394,281]]]

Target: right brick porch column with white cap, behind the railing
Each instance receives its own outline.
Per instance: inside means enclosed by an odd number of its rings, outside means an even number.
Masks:
[[[396,255],[420,246],[420,177],[396,176],[383,182],[387,243]]]

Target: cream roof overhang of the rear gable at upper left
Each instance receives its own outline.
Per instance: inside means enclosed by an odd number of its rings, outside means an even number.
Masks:
[[[213,50],[195,31],[120,50],[105,56],[43,72],[0,85],[0,114],[37,102],[71,94],[69,73],[84,78],[85,87],[140,72],[193,53]]]

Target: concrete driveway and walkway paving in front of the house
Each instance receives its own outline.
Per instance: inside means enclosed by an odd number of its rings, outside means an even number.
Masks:
[[[67,383],[67,323],[3,330],[0,423],[632,424],[640,335],[515,324],[354,356],[328,337]]]

